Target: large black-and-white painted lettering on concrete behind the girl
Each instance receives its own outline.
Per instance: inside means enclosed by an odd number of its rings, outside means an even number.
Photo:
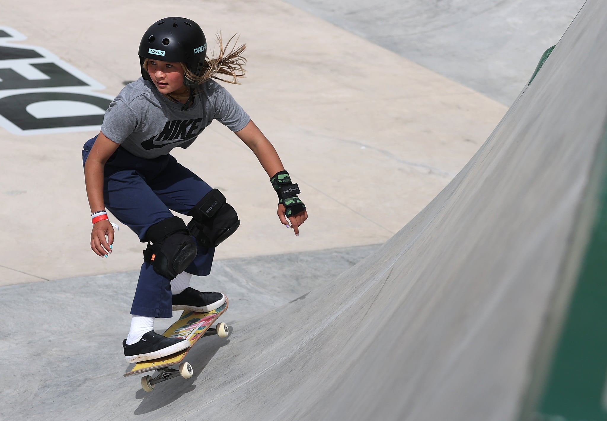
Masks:
[[[113,97],[93,92],[105,87],[45,48],[7,45],[26,38],[0,29],[0,125],[14,134],[99,130]],[[81,115],[86,104],[92,114]]]

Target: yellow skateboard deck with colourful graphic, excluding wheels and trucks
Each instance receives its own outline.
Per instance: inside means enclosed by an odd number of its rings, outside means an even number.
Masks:
[[[208,311],[207,313],[184,310],[179,319],[163,333],[163,336],[188,339],[190,342],[189,348],[166,357],[138,362],[131,371],[124,373],[124,377],[131,376],[132,374],[145,373],[146,371],[160,370],[171,365],[179,364],[183,361],[189,350],[192,349],[194,343],[201,337],[206,336],[205,333],[207,333],[211,325],[219,316],[225,313],[226,310],[228,310],[228,297],[226,297],[226,302],[221,307]],[[223,323],[222,328],[225,328],[225,333],[220,333],[220,336],[227,336],[228,332],[225,323]]]

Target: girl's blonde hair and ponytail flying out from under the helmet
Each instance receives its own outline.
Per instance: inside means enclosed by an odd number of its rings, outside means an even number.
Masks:
[[[234,40],[235,36],[236,35],[232,35],[224,46],[222,41],[222,34],[219,33],[216,35],[217,43],[219,44],[219,55],[216,58],[209,58],[208,56],[206,56],[205,64],[202,67],[202,75],[200,76],[194,75],[194,73],[192,73],[186,67],[185,63],[180,62],[181,68],[183,68],[183,77],[196,85],[203,84],[209,79],[217,79],[222,82],[228,82],[229,84],[239,85],[240,82],[238,81],[238,78],[245,77],[246,58],[242,56],[242,53],[245,51],[246,44],[242,44],[239,45],[239,47],[236,47],[236,42],[238,41],[238,38],[236,38],[236,41],[234,41],[234,43],[232,44],[231,50],[229,51],[229,53],[226,54],[226,51],[228,51],[229,45],[232,40]],[[143,61],[143,70],[148,70],[149,60],[150,59],[146,58]],[[217,75],[228,75],[232,78],[231,80],[226,80],[217,77]]]

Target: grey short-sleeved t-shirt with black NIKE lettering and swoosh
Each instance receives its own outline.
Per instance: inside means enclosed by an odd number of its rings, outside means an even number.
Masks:
[[[101,131],[135,156],[151,159],[172,148],[187,148],[213,119],[239,131],[251,120],[231,94],[215,81],[198,88],[194,105],[181,104],[158,92],[143,78],[126,85],[107,108]]]

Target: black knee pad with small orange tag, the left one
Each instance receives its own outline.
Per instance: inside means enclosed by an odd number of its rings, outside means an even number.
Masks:
[[[143,260],[151,263],[156,273],[171,280],[183,272],[198,253],[188,227],[178,216],[149,227],[146,239],[148,248],[143,250]]]

